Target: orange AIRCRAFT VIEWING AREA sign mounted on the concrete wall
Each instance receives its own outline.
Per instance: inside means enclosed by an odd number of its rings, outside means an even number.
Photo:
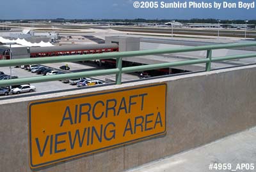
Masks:
[[[33,101],[28,106],[31,168],[166,132],[166,85]]]

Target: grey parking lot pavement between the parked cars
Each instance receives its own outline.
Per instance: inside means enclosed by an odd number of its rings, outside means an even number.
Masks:
[[[60,66],[68,65],[70,67],[69,71],[63,71],[60,68]],[[60,62],[60,63],[54,63],[54,64],[44,64],[44,66],[47,66],[49,68],[52,68],[54,70],[63,71],[65,73],[73,73],[73,72],[81,72],[81,71],[88,71],[88,70],[95,70],[97,69],[97,65],[95,64],[79,64],[76,62]],[[10,68],[9,67],[2,67],[0,68],[0,71],[3,71],[6,75],[10,75]],[[12,67],[12,76],[18,76],[19,78],[26,78],[26,77],[36,77],[41,76],[37,75],[36,73],[31,73],[30,71],[27,71],[25,69],[21,68],[14,68]],[[115,82],[115,75],[104,75],[104,76],[93,76],[92,79],[100,80],[102,82],[108,83],[108,82]],[[129,75],[129,74],[123,74],[122,75],[122,82],[130,81],[130,80],[137,80],[138,76],[136,75]],[[70,85],[69,83],[63,83],[60,81],[53,81],[53,82],[42,82],[42,83],[31,83],[31,85],[34,85],[36,87],[36,93],[42,93],[42,92],[54,92],[54,91],[61,91],[61,90],[68,90],[68,89],[76,89],[76,85]],[[24,94],[33,94],[35,92],[26,92]],[[9,95],[9,96],[15,96]],[[4,96],[1,96],[4,97]]]

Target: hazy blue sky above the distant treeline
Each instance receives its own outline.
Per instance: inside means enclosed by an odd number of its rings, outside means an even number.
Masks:
[[[29,19],[29,18],[147,18],[147,19],[256,19],[256,8],[244,9],[141,9],[134,8],[135,0],[8,0],[1,3],[0,19]],[[166,0],[164,2],[178,2]],[[193,0],[180,0],[180,2]],[[204,0],[195,0],[202,2]],[[215,0],[222,3],[223,0]],[[239,0],[252,3],[251,0]],[[161,1],[158,1],[161,2]],[[204,2],[213,3],[214,0]],[[236,0],[229,2],[238,2]],[[160,3],[159,3],[160,4]]]

